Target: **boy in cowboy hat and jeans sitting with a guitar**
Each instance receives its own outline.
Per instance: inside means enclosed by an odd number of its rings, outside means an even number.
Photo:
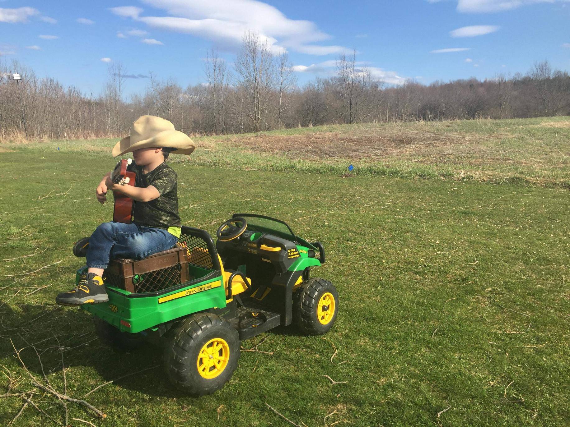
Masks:
[[[111,221],[96,228],[88,241],[87,274],[80,277],[74,290],[60,293],[59,305],[82,305],[109,300],[103,286],[103,271],[111,258],[141,259],[176,245],[180,237],[177,175],[165,162],[170,153],[190,154],[194,142],[186,134],[174,130],[168,120],[141,116],[132,126],[131,136],[113,147],[113,157],[132,151],[136,186],[115,184],[112,172],[103,176],[95,191],[97,200],[105,203],[107,191],[120,191],[135,200],[131,224]]]

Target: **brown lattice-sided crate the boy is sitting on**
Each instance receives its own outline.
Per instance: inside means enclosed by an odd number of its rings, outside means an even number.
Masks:
[[[105,285],[133,293],[156,292],[188,280],[188,251],[178,246],[143,260],[116,258],[103,274]]]

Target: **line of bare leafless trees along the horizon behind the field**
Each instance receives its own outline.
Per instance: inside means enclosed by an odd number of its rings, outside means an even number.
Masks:
[[[83,93],[25,65],[0,60],[0,139],[118,137],[144,114],[190,135],[259,132],[298,126],[413,120],[526,118],[570,114],[570,76],[548,61],[526,73],[429,85],[385,85],[342,54],[334,75],[299,86],[286,53],[274,55],[257,34],[242,40],[233,67],[211,51],[205,83],[182,88],[150,74],[145,92],[125,100],[127,71],[108,66],[99,95]],[[12,80],[11,71],[22,80]]]

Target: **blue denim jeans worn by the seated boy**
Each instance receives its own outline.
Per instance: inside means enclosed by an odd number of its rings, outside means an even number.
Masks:
[[[162,228],[145,227],[111,221],[99,225],[89,237],[87,266],[107,268],[111,258],[142,259],[166,251],[178,241]]]

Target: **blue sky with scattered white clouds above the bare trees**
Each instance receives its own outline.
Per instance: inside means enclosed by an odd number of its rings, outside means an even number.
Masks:
[[[544,59],[570,69],[570,0],[0,0],[1,59],[95,95],[109,60],[140,76],[127,96],[150,72],[200,84],[207,51],[231,64],[246,30],[285,49],[301,84],[353,49],[388,84],[524,73]]]

